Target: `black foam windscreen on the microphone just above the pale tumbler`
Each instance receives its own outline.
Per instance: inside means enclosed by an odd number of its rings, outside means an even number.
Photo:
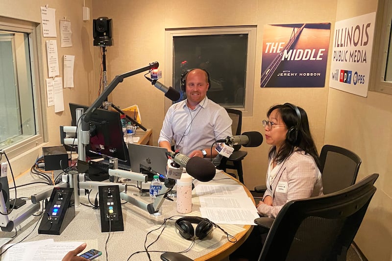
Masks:
[[[195,179],[207,182],[215,177],[215,166],[212,162],[199,158],[190,158],[185,166],[189,175]]]

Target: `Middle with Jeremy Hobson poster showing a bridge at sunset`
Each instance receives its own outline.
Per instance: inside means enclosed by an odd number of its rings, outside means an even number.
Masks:
[[[260,87],[324,87],[330,23],[264,26]]]

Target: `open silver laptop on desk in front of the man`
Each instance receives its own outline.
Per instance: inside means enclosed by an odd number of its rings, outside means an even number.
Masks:
[[[129,143],[128,151],[133,172],[148,174],[148,180],[152,180],[153,177],[152,173],[147,173],[146,169],[148,168],[165,175],[168,162],[168,157],[166,156],[168,150],[166,148]]]

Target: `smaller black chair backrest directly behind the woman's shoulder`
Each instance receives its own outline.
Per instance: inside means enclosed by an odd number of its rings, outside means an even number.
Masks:
[[[320,153],[321,178],[324,194],[343,190],[355,183],[361,158],[354,152],[324,145]]]

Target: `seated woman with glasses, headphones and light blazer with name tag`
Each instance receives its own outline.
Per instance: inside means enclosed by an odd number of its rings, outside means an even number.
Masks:
[[[275,218],[294,199],[322,194],[319,155],[309,130],[306,112],[293,104],[274,105],[263,120],[265,141],[271,145],[261,216]],[[268,231],[253,229],[245,242],[230,255],[230,261],[258,260]]]

